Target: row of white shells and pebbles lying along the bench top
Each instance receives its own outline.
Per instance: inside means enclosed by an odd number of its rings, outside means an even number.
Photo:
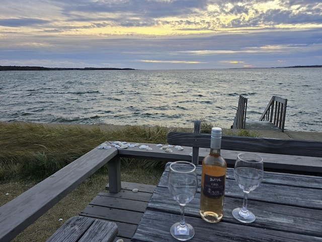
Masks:
[[[151,147],[149,147],[147,145],[140,145],[139,143],[130,144],[125,141],[123,141],[123,142],[114,141],[111,145],[107,145],[107,144],[103,143],[98,147],[98,149],[107,149],[108,150],[108,149],[111,149],[112,147],[119,148],[119,149],[126,149],[128,147],[130,147],[130,148],[138,147],[139,149],[145,149],[147,151],[153,150]],[[156,147],[159,148],[160,150],[165,150],[165,152],[169,152],[169,153],[173,152],[173,150],[171,148],[175,148],[178,151],[182,151],[184,149],[181,146],[163,145],[163,144],[157,144]]]

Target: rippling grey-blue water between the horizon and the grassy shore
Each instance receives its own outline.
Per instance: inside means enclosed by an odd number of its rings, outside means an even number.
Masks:
[[[322,132],[322,68],[0,72],[0,121],[230,128],[238,96],[258,120],[287,98],[285,130]]]

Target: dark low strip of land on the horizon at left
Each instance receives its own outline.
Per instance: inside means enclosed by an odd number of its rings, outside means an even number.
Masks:
[[[60,67],[42,67],[42,66],[0,66],[0,71],[63,71],[63,70],[135,70],[132,68],[60,68]]]

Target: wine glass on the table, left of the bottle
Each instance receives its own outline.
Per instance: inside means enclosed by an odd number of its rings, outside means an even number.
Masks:
[[[171,226],[172,236],[181,241],[191,239],[195,230],[185,222],[185,206],[190,202],[198,188],[196,166],[187,161],[176,161],[170,165],[169,190],[173,199],[178,201],[181,210],[181,220]]]

